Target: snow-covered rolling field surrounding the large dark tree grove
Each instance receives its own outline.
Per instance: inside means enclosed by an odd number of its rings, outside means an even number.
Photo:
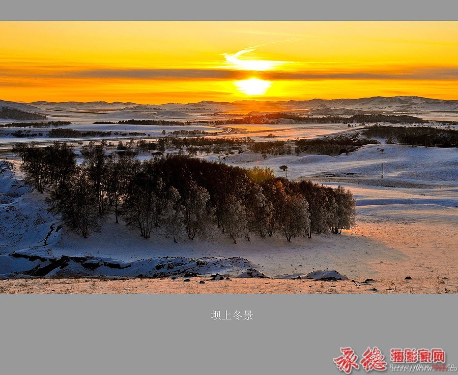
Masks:
[[[176,273],[220,273],[234,277],[247,268],[268,276],[281,276],[335,269],[359,281],[373,278],[390,285],[395,282],[397,291],[402,293],[443,292],[445,287],[438,280],[447,280],[458,287],[458,149],[377,144],[338,157],[264,158],[261,154],[244,152],[205,158],[247,168],[268,166],[278,176],[285,175],[278,168],[285,164],[289,167],[289,178],[342,184],[357,200],[357,225],[341,235],[313,234],[311,239],[295,238],[291,243],[278,235],[251,236],[250,241],[239,240],[234,244],[231,238],[216,232],[211,240],[180,238],[174,243],[160,232],[148,240],[142,239],[108,216],[101,232],[84,239],[62,227],[59,218],[46,211],[45,195],[25,186],[20,161],[14,160],[13,170],[0,175],[0,274],[17,277],[11,272],[20,273],[36,266],[40,269],[38,276],[60,277],[100,274],[166,277]],[[409,284],[410,289],[403,287],[406,276],[417,280]],[[168,283],[171,283],[169,279]],[[280,284],[264,287],[263,283],[240,289],[231,289],[228,284],[224,290],[261,292],[262,284],[264,292],[269,292],[270,287],[271,292],[288,292]],[[207,284],[199,285],[202,292],[217,292],[216,287],[208,289]],[[135,288],[157,292],[152,285],[148,287],[152,289]],[[174,285],[163,288],[173,293]],[[306,284],[307,292],[329,292],[329,288],[314,288],[316,285],[308,288]],[[351,282],[337,282],[337,285],[344,293],[363,291]],[[446,286],[453,293],[457,291],[455,287]],[[389,289],[388,286],[375,288]],[[186,289],[177,292],[186,293]],[[293,288],[289,292],[305,291]]]

